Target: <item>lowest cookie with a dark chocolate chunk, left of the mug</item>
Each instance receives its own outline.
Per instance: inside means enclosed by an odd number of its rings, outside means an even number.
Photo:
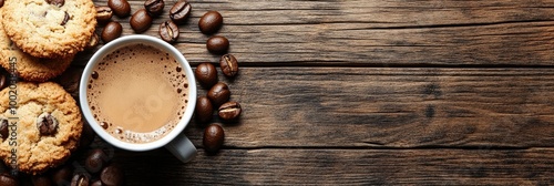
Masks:
[[[53,82],[19,82],[16,90],[16,100],[9,99],[11,89],[0,91],[0,158],[33,175],[61,165],[83,127],[75,100]]]

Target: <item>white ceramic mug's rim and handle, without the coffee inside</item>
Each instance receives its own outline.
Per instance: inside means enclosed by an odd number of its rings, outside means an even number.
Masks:
[[[91,79],[91,73],[94,70],[94,66],[99,62],[101,62],[105,55],[112,53],[113,51],[125,45],[137,44],[137,43],[154,46],[163,52],[167,52],[171,55],[173,55],[173,58],[178,63],[181,63],[188,81],[188,93],[187,93],[188,103],[183,114],[183,117],[168,134],[166,134],[162,138],[148,143],[129,143],[129,142],[123,142],[110,135],[105,130],[101,127],[99,122],[94,118],[92,111],[89,106],[88,94],[86,94],[88,82]],[[92,55],[92,58],[89,60],[89,63],[86,64],[86,68],[84,69],[83,74],[81,76],[81,82],[79,86],[79,101],[81,103],[81,110],[83,112],[84,118],[89,122],[91,127],[96,132],[96,134],[100,137],[102,137],[104,141],[106,141],[107,143],[112,144],[115,147],[127,151],[142,152],[165,146],[170,152],[173,153],[173,155],[175,155],[178,159],[185,163],[191,161],[196,155],[196,147],[183,134],[183,131],[189,123],[191,117],[193,116],[194,107],[196,105],[196,81],[194,79],[193,70],[188,64],[188,62],[186,61],[185,56],[183,56],[183,54],[177,49],[175,49],[173,45],[168,44],[167,42],[161,39],[141,34],[126,35],[113,40],[107,44],[105,44],[104,46],[102,46],[100,50],[98,50],[94,53],[94,55]]]

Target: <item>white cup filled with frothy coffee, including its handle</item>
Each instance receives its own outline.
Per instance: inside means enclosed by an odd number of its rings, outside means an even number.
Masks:
[[[90,59],[79,91],[84,118],[113,146],[165,146],[182,162],[196,155],[183,134],[196,104],[194,74],[165,41],[137,34],[109,42]]]

